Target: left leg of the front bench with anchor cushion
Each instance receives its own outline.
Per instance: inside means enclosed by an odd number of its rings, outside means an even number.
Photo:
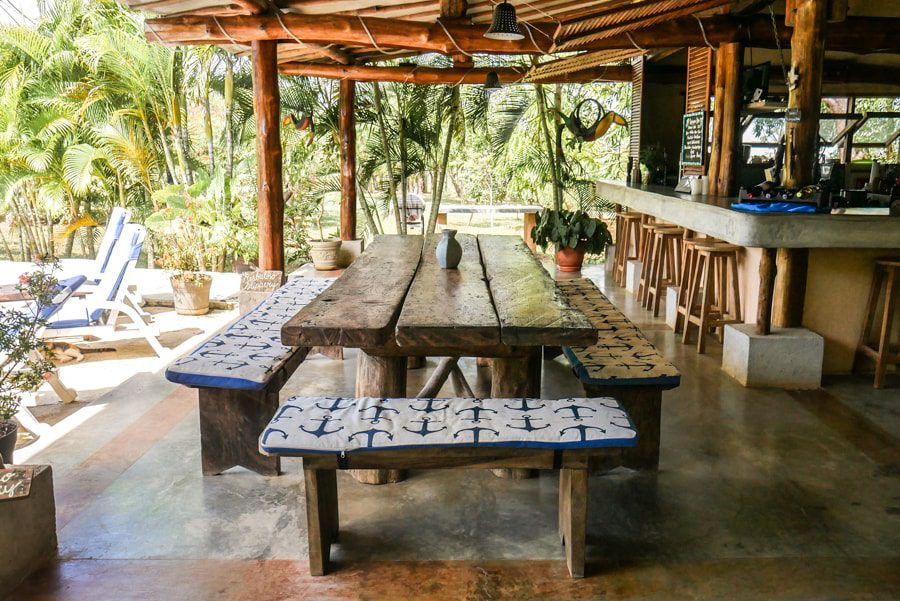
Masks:
[[[326,472],[330,472],[330,475]],[[330,499],[337,497],[334,470],[303,469],[306,484],[306,528],[309,541],[309,573],[323,576],[328,571],[336,517],[331,517]],[[334,490],[332,490],[332,488]],[[334,506],[335,516],[337,507]]]

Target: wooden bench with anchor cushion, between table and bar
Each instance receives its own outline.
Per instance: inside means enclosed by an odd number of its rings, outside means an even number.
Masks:
[[[559,287],[569,302],[600,330],[595,345],[563,347],[585,394],[618,400],[641,433],[637,446],[623,451],[623,464],[634,469],[656,469],[662,392],[681,384],[678,368],[660,355],[593,282],[562,281]]]

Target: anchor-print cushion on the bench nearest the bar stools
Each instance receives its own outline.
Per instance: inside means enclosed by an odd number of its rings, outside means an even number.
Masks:
[[[677,386],[678,369],[659,354],[640,329],[587,279],[559,282],[569,302],[600,330],[597,344],[564,347],[578,377],[587,384]]]

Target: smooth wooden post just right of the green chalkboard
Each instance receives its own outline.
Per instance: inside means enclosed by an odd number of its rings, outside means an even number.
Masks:
[[[713,114],[713,143],[709,166],[709,193],[735,193],[741,152],[741,70],[744,45],[729,42],[716,52],[716,108]]]

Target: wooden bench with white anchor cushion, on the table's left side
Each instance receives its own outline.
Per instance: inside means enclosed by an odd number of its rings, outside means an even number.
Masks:
[[[242,466],[278,475],[277,457],[258,451],[278,410],[278,393],[309,352],[281,344],[281,326],[332,280],[292,278],[226,330],[166,369],[166,379],[198,389],[203,475]]]

